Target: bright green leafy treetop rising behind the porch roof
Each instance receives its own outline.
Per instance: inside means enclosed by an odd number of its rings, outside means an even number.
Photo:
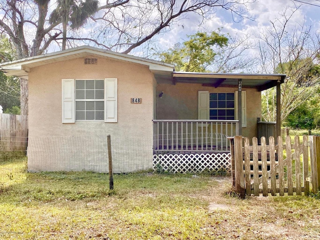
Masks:
[[[228,37],[220,34],[220,30],[213,31],[208,35],[206,32],[197,32],[188,35],[188,40],[176,43],[166,52],[159,54],[162,61],[175,65],[176,71],[205,72],[210,66],[217,53],[215,46],[227,46]]]

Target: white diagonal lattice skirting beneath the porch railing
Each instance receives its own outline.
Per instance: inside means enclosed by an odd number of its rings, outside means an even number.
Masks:
[[[228,172],[231,169],[231,155],[230,153],[155,154],[153,169],[174,173]]]

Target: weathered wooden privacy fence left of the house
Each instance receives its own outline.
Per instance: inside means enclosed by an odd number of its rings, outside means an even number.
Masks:
[[[0,114],[0,150],[25,151],[27,140],[27,116]]]

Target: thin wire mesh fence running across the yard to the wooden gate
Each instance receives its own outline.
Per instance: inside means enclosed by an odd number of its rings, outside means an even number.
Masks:
[[[2,187],[30,178],[42,178],[42,182],[58,180],[61,174],[78,178],[81,174],[92,174],[95,177],[91,180],[108,181],[107,136],[0,138]],[[115,186],[117,176],[126,174],[137,181],[151,175],[173,178],[230,175],[228,152],[194,152],[184,148],[183,152],[158,153],[153,149],[153,139],[154,136],[111,136]]]

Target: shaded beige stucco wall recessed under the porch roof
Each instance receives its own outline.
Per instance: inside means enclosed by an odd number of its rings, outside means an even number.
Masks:
[[[157,84],[157,94],[164,92],[162,98],[156,98],[156,117],[161,119],[198,119],[198,91],[235,92],[237,88],[203,87],[202,84],[177,83]],[[242,135],[257,135],[257,117],[261,118],[261,92],[243,88],[247,96],[247,127],[242,128]]]

